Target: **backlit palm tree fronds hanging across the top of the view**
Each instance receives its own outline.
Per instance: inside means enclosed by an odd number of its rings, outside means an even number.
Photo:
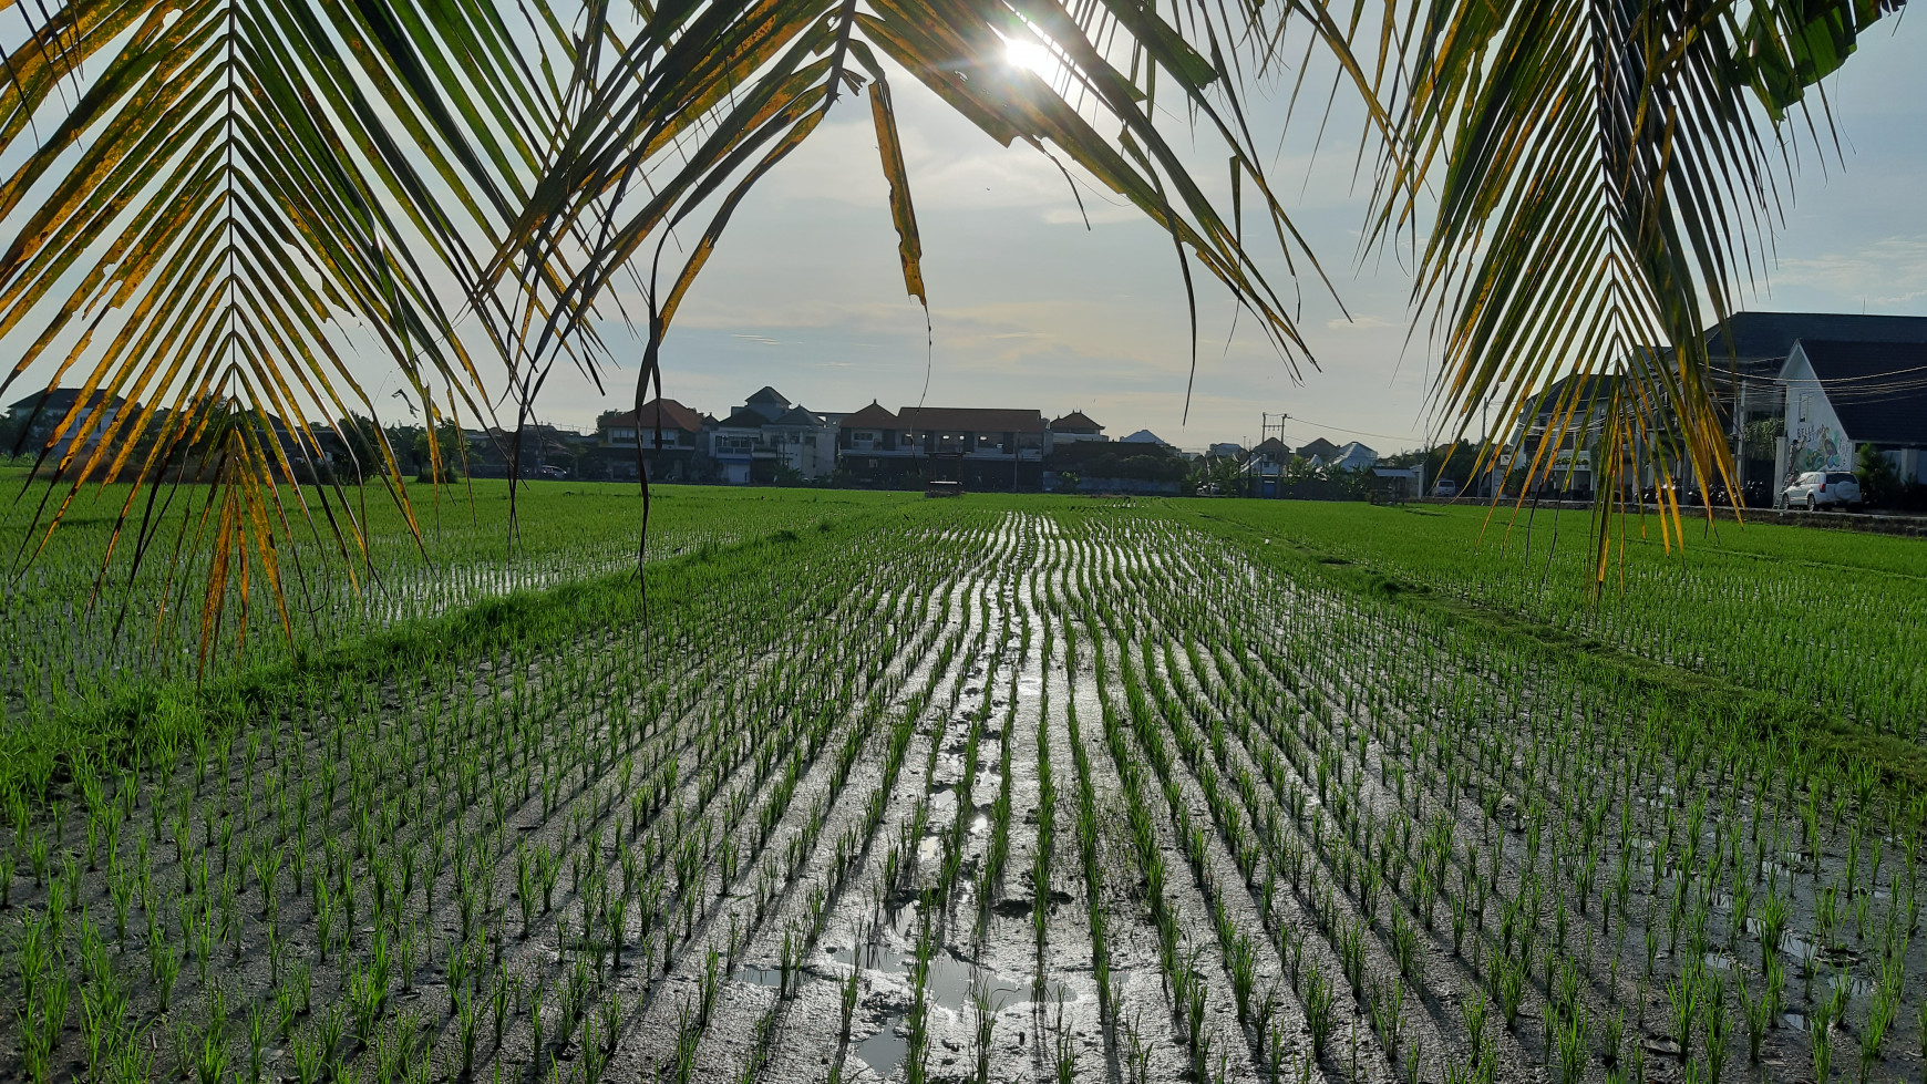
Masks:
[[[1268,175],[1276,133],[1253,131],[1243,92],[1303,40],[1362,104],[1366,241],[1418,250],[1414,320],[1443,348],[1436,395],[1461,429],[1484,402],[1515,416],[1563,370],[1613,372],[1626,381],[1607,443],[1669,427],[1684,449],[1673,466],[1713,477],[1729,451],[1702,312],[1730,312],[1736,271],[1763,248],[1794,160],[1779,150],[1786,110],[1898,0],[524,8],[19,8],[0,127],[17,164],[0,189],[12,375],[58,360],[172,406],[123,412],[60,464],[64,485],[102,477],[110,449],[154,427],[152,454],[175,447],[208,402],[285,418],[320,458],[303,418],[378,416],[355,354],[385,358],[424,426],[466,416],[520,435],[557,364],[599,372],[595,322],[617,281],[640,293],[620,306],[646,331],[640,404],[661,393],[665,335],[742,198],[858,96],[904,289],[927,304],[890,89],[904,73],[998,142],[1118,193],[1172,237],[1187,295],[1208,273],[1297,374],[1293,289],[1245,239],[1324,277]],[[1012,64],[1014,48],[1035,64]],[[1193,175],[1187,137],[1158,116],[1191,117],[1227,175]],[[106,310],[114,323],[75,335]],[[208,462],[243,524],[225,545],[281,553],[258,535],[283,528],[243,514],[279,470],[266,441],[224,439]],[[58,522],[66,504],[48,506]]]

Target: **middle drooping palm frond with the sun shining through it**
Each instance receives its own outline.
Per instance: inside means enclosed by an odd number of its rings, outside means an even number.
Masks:
[[[1316,270],[1243,121],[1233,60],[1281,33],[1291,12],[1185,2],[1172,19],[1127,0],[765,0],[740,6],[661,6],[611,54],[582,121],[561,141],[491,266],[491,283],[540,295],[547,320],[528,356],[541,362],[588,323],[611,281],[640,271],[649,345],[638,404],[657,377],[655,358],[680,300],[752,187],[775,169],[850,90],[869,87],[906,291],[925,300],[911,179],[904,169],[886,62],[1002,144],[1062,156],[1085,177],[1127,198],[1164,227],[1191,275],[1199,264],[1249,312],[1297,372],[1310,354],[1297,308],[1243,245],[1243,198],[1226,208],[1208,194],[1170,135],[1154,121],[1156,94],[1175,96],[1229,150],[1229,181],[1270,219],[1287,258]],[[1328,17],[1297,15],[1349,58]],[[1046,48],[1062,67],[1052,83],[1006,62],[1010,42]],[[1102,44],[1100,44],[1102,42]],[[1123,42],[1123,44],[1118,44]],[[1364,73],[1357,65],[1364,87]],[[1106,135],[1116,133],[1116,135]],[[663,268],[671,231],[707,221],[700,241]],[[553,239],[594,237],[567,281],[543,281]]]

